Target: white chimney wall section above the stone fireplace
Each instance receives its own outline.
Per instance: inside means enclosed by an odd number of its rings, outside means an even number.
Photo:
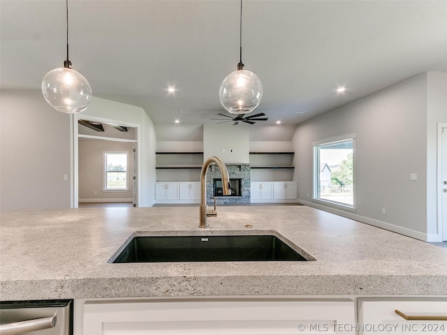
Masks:
[[[203,125],[203,157],[218,156],[224,163],[250,163],[249,132],[244,126]]]

